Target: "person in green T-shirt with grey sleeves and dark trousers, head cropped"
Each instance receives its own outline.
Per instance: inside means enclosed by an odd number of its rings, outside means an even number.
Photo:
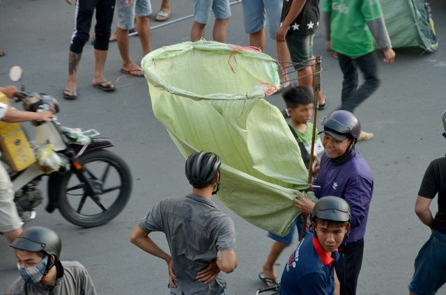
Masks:
[[[384,62],[393,63],[395,58],[383,11],[378,0],[323,0],[323,19],[325,37],[337,51],[339,66],[344,73],[340,109],[353,113],[380,83],[372,35],[384,51]],[[365,80],[360,88],[357,88],[357,67]],[[373,134],[361,131],[358,141],[371,137]]]

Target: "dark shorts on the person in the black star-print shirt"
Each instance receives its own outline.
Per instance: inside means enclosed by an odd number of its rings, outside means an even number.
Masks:
[[[291,61],[293,63],[303,63],[303,65],[295,65],[295,70],[307,67],[310,62],[309,59],[313,56],[313,35],[289,35],[286,34],[286,45],[290,51]]]

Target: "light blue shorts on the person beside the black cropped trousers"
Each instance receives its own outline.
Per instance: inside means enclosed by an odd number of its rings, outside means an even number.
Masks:
[[[125,0],[116,0],[116,18],[118,19],[118,28],[130,30],[134,27],[134,15],[137,17],[146,17],[152,14],[150,0],[133,0],[133,4],[125,7]]]

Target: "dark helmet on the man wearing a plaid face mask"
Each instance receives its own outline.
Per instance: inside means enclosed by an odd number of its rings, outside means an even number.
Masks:
[[[43,226],[26,228],[12,244],[11,247],[28,252],[43,252],[54,255],[59,260],[62,249],[61,237],[54,230]]]

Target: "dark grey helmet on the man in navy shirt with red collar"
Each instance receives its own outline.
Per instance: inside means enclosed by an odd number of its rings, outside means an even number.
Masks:
[[[313,208],[312,218],[326,221],[350,221],[351,211],[346,200],[335,196],[320,198]]]

